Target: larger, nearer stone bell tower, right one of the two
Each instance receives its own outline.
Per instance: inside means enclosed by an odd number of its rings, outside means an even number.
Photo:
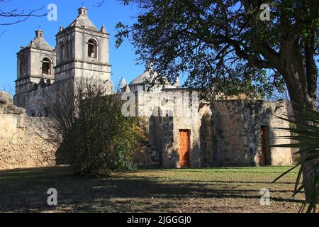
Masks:
[[[109,34],[104,26],[101,30],[94,26],[86,8],[78,9],[77,18],[67,28],[60,27],[56,40],[56,82],[84,79],[103,86],[106,94],[113,93]]]

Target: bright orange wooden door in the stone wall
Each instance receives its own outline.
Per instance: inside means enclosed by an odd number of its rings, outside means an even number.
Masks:
[[[189,131],[179,131],[179,167],[189,167]]]

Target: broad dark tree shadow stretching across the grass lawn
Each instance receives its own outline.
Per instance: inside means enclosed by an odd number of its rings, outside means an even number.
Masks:
[[[0,211],[50,211],[47,189],[57,189],[60,211],[126,212],[169,211],[184,199],[256,199],[259,189],[225,187],[231,181],[158,181],[158,177],[114,175],[110,177],[76,177],[67,167],[50,167],[0,171]],[[259,184],[263,182],[252,182]],[[268,184],[269,182],[267,182]],[[291,193],[276,190],[272,193]],[[153,198],[156,201],[153,201]],[[280,202],[301,202],[272,198]]]

